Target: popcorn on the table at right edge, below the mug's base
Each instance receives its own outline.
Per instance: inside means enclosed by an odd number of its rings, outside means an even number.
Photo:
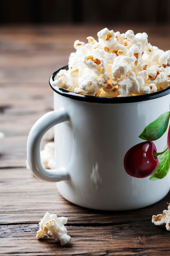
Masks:
[[[170,231],[170,204],[168,203],[168,210],[163,210],[162,214],[153,215],[152,216],[152,223],[154,225],[166,225],[166,229]]]

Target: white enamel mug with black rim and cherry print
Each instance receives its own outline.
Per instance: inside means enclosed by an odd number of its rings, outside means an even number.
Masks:
[[[99,210],[146,207],[168,193],[170,88],[117,98],[51,88],[54,111],[34,124],[27,141],[36,177],[57,182],[68,201]],[[40,160],[40,143],[52,126],[56,169],[48,170]]]

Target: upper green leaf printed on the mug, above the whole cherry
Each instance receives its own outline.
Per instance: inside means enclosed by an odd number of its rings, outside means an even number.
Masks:
[[[154,141],[159,139],[167,130],[170,119],[170,111],[160,115],[152,123],[145,127],[139,138]]]

